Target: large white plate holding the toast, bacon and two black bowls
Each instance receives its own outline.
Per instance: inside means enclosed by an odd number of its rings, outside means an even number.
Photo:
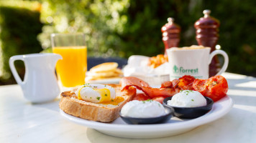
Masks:
[[[230,97],[224,97],[214,103],[210,112],[196,119],[178,119],[172,117],[169,122],[163,124],[126,124],[119,117],[111,123],[93,122],[66,114],[60,109],[60,114],[72,122],[82,124],[83,126],[93,128],[104,134],[115,137],[127,138],[155,138],[168,137],[175,134],[188,132],[202,124],[213,122],[223,117],[233,107],[233,100]]]

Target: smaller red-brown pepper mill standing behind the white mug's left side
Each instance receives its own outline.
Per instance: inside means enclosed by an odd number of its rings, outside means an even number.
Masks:
[[[171,47],[178,47],[180,42],[180,26],[174,23],[174,19],[169,17],[168,23],[165,24],[161,31],[163,33],[163,44],[165,44],[165,54],[166,49]]]

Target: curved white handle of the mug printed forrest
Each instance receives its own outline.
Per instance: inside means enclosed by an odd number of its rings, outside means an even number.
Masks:
[[[229,64],[229,56],[227,56],[227,53],[221,49],[217,49],[211,52],[210,57],[209,57],[209,64],[211,64],[211,60],[212,58],[216,55],[216,54],[221,54],[222,56],[224,56],[224,64],[221,68],[221,70],[219,70],[219,72],[216,75],[220,75],[222,73],[224,73],[224,71],[226,71],[227,66]],[[216,76],[215,75],[215,76]]]

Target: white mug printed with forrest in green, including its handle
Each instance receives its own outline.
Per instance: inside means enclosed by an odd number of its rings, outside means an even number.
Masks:
[[[216,74],[222,74],[226,71],[229,56],[222,50],[211,52],[210,47],[204,48],[170,48],[167,49],[168,62],[170,65],[170,80],[178,79],[184,75],[191,75],[196,79],[209,78],[209,64],[216,54],[224,56],[224,65]]]

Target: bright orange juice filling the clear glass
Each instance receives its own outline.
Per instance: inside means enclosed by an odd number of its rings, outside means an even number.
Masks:
[[[86,46],[55,46],[53,53],[60,54],[60,59],[56,65],[58,79],[63,87],[76,87],[85,84],[87,70],[87,50]]]

